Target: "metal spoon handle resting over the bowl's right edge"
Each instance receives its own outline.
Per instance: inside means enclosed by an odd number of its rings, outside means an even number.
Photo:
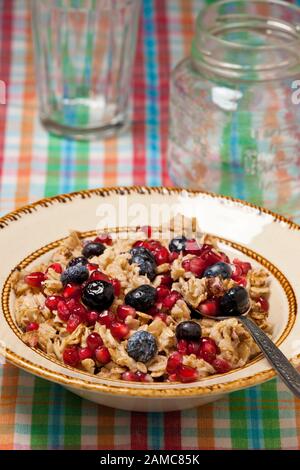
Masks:
[[[278,372],[283,382],[300,398],[300,374],[288,361],[285,355],[277,348],[273,341],[248,317],[239,317],[239,320],[249,330],[256,343]]]

